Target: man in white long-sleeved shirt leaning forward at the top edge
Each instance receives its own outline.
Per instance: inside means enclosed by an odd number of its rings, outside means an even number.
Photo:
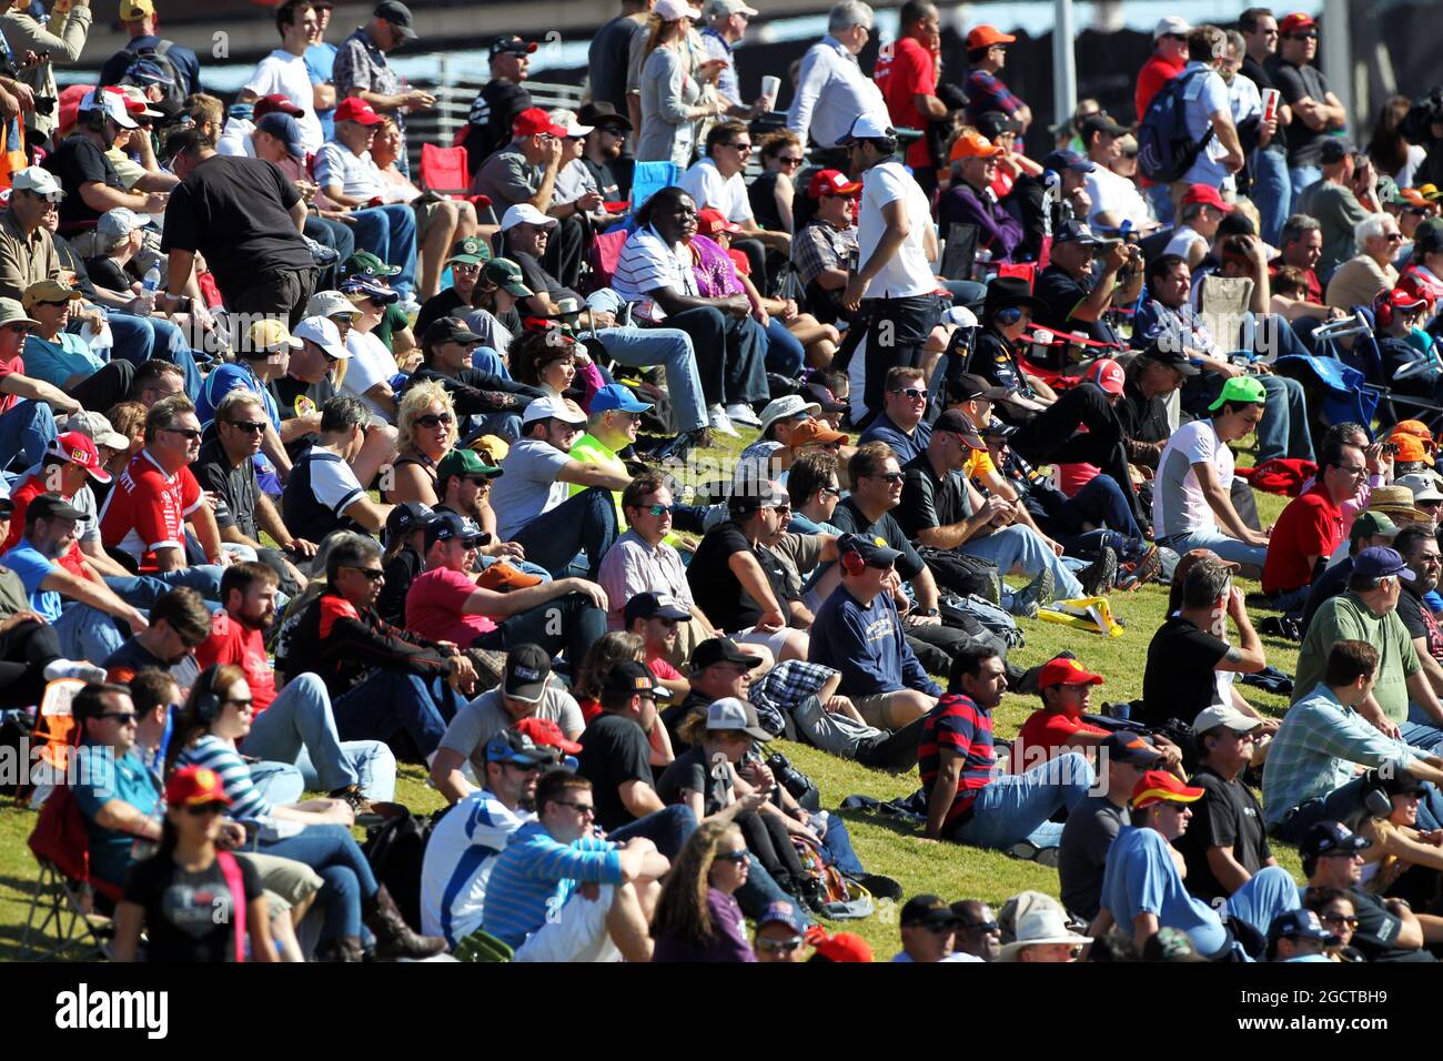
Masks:
[[[786,113],[786,127],[804,144],[840,147],[860,118],[867,118],[870,127],[886,128],[887,102],[857,64],[874,25],[872,7],[860,0],[841,0],[827,13],[827,36],[802,56],[797,95]]]

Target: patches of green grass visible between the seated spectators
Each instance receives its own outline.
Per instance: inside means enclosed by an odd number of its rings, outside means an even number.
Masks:
[[[729,450],[740,449],[733,443]],[[1264,524],[1273,523],[1284,504],[1283,498],[1258,494],[1258,511]],[[1250,592],[1257,592],[1255,583],[1244,583]],[[1107,677],[1107,684],[1094,694],[1095,702],[1130,700],[1143,693],[1143,665],[1147,642],[1153,631],[1162,625],[1167,593],[1163,586],[1144,586],[1136,593],[1115,593],[1111,598],[1114,615],[1126,625],[1118,638],[1104,638],[1084,634],[1069,626],[1045,622],[1022,621],[1027,644],[1014,650],[1010,658],[1023,667],[1042,663],[1058,651],[1069,648],[1091,670]],[[1250,602],[1251,603],[1251,602]],[[1254,616],[1257,622],[1257,616]],[[1289,674],[1296,673],[1296,647],[1266,638],[1268,663]],[[1280,716],[1287,702],[1284,697],[1242,686],[1244,696],[1261,712]],[[1009,693],[996,715],[996,732],[1001,738],[1016,733],[1022,722],[1038,706],[1035,697]],[[810,774],[817,782],[823,807],[834,810],[847,795],[861,793],[879,798],[906,795],[918,785],[916,772],[890,775],[866,769],[854,762],[837,759],[814,748],[776,742],[778,748],[791,756],[792,762]],[[424,771],[418,767],[404,767],[397,798],[418,811],[440,807],[440,797],[424,782]],[[962,847],[951,843],[929,843],[909,824],[870,814],[846,813],[847,829],[851,833],[857,853],[867,869],[887,873],[902,882],[906,895],[934,892],[948,901],[981,898],[1000,905],[1010,895],[1035,889],[1049,895],[1058,894],[1056,870],[1030,862],[1019,862],[1006,855]],[[25,921],[25,907],[29,888],[35,881],[35,862],[25,837],[29,834],[35,816],[12,803],[0,807],[0,960],[19,957],[17,941]],[[1278,859],[1297,878],[1300,868],[1291,849],[1277,847]],[[883,911],[866,921],[830,925],[846,928],[864,937],[883,960],[898,950],[895,918]]]

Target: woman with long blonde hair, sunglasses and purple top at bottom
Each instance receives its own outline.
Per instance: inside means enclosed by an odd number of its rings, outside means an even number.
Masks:
[[[749,863],[742,830],[734,824],[717,820],[697,826],[657,899],[651,960],[756,961],[736,902]]]

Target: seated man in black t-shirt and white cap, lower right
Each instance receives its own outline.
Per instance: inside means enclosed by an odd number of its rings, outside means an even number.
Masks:
[[[1227,899],[1277,859],[1263,829],[1263,805],[1242,784],[1255,751],[1258,720],[1231,704],[1208,707],[1192,722],[1201,758],[1188,784],[1202,788],[1192,821],[1177,839],[1188,862],[1188,891],[1199,899]]]

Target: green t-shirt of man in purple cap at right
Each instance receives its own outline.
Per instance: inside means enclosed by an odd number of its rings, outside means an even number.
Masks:
[[[1421,664],[1413,648],[1413,638],[1397,611],[1378,616],[1369,612],[1354,592],[1335,596],[1317,609],[1307,626],[1307,637],[1297,652],[1297,677],[1293,678],[1293,703],[1312,693],[1323,681],[1328,654],[1338,641],[1367,641],[1378,650],[1378,677],[1372,696],[1390,722],[1408,717],[1407,680]]]

